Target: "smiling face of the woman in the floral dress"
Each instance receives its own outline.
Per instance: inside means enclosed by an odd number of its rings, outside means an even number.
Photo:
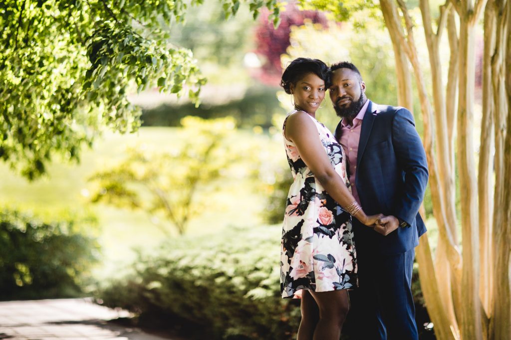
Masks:
[[[296,84],[291,84],[290,89],[294,95],[295,107],[308,113],[315,113],[324,99],[324,81],[314,73],[309,73]]]

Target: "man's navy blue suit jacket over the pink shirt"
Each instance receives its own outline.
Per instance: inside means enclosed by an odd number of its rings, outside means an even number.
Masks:
[[[335,137],[340,140],[341,124]],[[387,236],[354,219],[355,247],[364,254],[398,254],[419,245],[426,226],[419,207],[428,183],[428,165],[413,115],[405,108],[369,101],[357,154],[360,204],[368,215],[394,215],[408,223]]]

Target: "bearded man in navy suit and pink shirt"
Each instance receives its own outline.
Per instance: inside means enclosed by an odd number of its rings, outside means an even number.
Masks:
[[[414,248],[426,232],[418,213],[428,182],[426,154],[410,111],[369,101],[355,65],[334,64],[331,77],[330,99],[342,118],[335,136],[349,163],[353,196],[367,214],[386,215],[374,228],[354,219],[356,335],[417,339],[410,286]]]

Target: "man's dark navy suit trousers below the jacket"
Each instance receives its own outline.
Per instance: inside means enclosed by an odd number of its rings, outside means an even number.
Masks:
[[[347,321],[355,338],[419,338],[410,289],[414,257],[414,249],[395,255],[357,254],[359,288],[350,291],[352,315]]]

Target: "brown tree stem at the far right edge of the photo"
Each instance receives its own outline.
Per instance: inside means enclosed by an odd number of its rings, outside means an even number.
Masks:
[[[496,48],[492,57],[495,106],[495,210],[493,228],[493,315],[490,338],[511,334],[511,2],[495,1],[497,11]],[[502,185],[500,185],[502,184]]]

